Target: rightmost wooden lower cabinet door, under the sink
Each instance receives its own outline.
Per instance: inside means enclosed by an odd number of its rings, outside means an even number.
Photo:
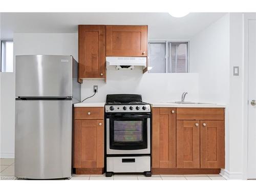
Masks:
[[[225,168],[224,121],[200,121],[201,168]]]

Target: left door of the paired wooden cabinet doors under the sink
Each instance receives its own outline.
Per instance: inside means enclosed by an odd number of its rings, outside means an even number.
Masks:
[[[177,120],[177,168],[200,168],[200,121]]]

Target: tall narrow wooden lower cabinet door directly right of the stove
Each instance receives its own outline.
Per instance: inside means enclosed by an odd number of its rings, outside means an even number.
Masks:
[[[153,108],[152,167],[176,167],[176,109]]]

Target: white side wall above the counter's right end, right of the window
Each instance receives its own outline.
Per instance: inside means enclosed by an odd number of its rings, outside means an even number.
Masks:
[[[199,73],[200,101],[228,102],[229,14],[191,38],[190,72]]]

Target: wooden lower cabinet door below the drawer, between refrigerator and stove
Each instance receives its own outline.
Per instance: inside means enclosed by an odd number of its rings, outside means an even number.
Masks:
[[[102,168],[103,120],[75,120],[74,168]]]

